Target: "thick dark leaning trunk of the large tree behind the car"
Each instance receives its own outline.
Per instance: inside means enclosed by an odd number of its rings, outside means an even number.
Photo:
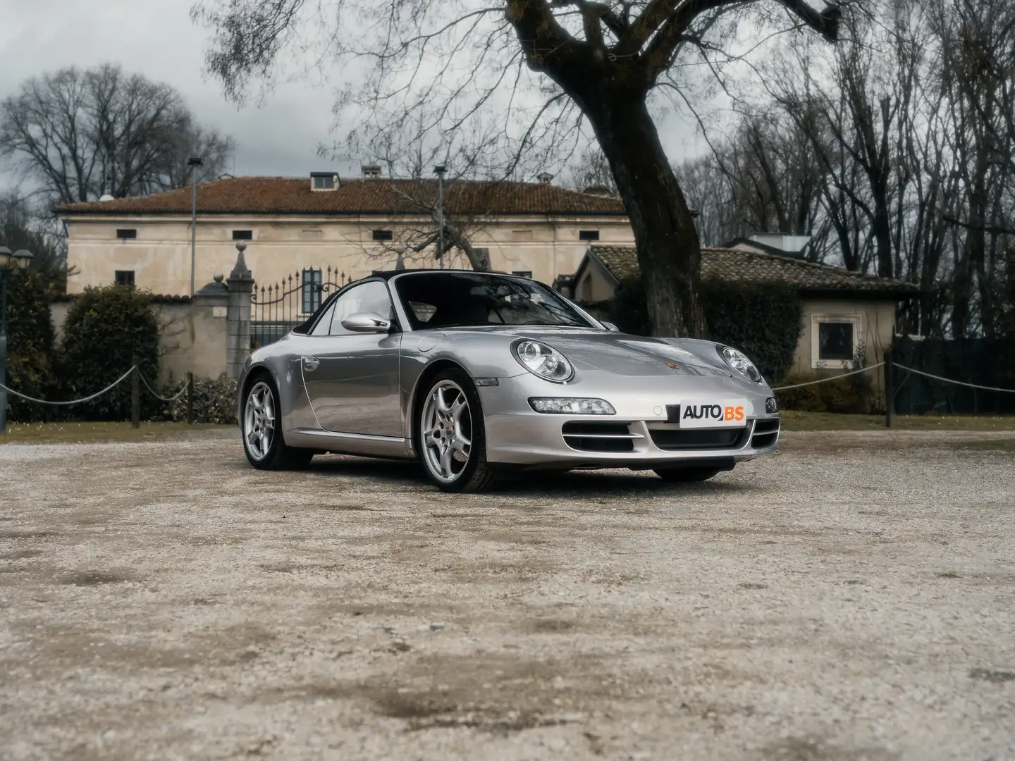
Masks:
[[[634,230],[653,334],[704,337],[698,234],[646,93],[607,89],[582,99]]]

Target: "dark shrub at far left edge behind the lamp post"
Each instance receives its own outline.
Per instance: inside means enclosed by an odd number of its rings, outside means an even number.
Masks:
[[[54,330],[50,301],[57,283],[53,273],[29,268],[14,270],[7,282],[6,385],[39,399],[54,399],[59,385],[54,372]],[[59,408],[7,396],[11,420],[49,420]]]

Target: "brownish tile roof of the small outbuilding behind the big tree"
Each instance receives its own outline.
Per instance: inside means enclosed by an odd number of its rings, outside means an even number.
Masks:
[[[637,277],[637,254],[630,246],[593,246],[589,250],[617,281]],[[716,280],[784,282],[801,290],[918,293],[913,283],[850,272],[794,257],[740,249],[701,249],[701,277]]]

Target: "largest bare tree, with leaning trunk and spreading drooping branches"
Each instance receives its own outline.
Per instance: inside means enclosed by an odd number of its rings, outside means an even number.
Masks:
[[[290,52],[315,51],[314,66],[338,57],[339,110],[361,114],[353,144],[416,121],[441,136],[502,126],[486,147],[502,152],[511,176],[537,146],[559,151],[587,120],[630,218],[660,335],[701,335],[704,325],[698,236],[650,95],[682,97],[676,62],[727,58],[745,20],[834,40],[839,15],[805,0],[204,0],[193,9],[214,30],[208,69],[233,97],[252,79],[270,81]],[[308,40],[307,29],[320,34]]]

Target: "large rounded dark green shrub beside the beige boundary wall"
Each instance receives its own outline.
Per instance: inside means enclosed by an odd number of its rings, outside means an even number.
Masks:
[[[158,321],[147,291],[109,285],[86,288],[75,297],[64,322],[60,371],[67,398],[99,391],[131,366],[137,356],[141,374],[158,376]],[[126,420],[130,417],[130,379],[91,402],[68,408],[85,420]],[[141,393],[141,417],[156,415],[161,402]]]

